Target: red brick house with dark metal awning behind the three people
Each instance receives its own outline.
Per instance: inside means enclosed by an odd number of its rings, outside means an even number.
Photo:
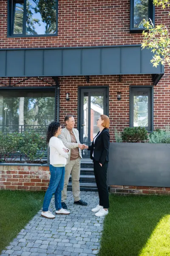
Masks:
[[[170,23],[152,0],[0,0],[0,127],[64,124],[81,142],[97,116],[114,127],[170,124],[170,72],[141,49],[141,20]]]

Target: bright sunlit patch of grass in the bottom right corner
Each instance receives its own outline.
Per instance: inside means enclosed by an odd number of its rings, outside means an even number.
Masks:
[[[170,255],[170,215],[166,215],[159,221],[146,245],[139,253],[139,256],[160,255]]]

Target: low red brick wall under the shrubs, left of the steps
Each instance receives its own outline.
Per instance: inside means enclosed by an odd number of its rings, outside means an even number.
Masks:
[[[49,166],[0,166],[0,189],[46,190]]]

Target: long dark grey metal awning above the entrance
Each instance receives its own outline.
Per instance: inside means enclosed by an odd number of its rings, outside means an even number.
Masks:
[[[140,45],[45,49],[0,49],[0,77],[164,74]]]

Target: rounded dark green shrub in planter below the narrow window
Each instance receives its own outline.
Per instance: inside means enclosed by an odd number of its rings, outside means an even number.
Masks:
[[[136,143],[147,138],[147,130],[144,127],[126,127],[122,131],[122,140],[125,142]]]

